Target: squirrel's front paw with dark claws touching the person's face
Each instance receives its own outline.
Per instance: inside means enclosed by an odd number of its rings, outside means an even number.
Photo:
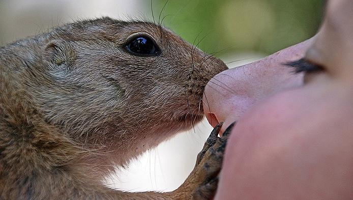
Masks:
[[[177,190],[169,193],[171,199],[206,200],[213,198],[217,189],[218,174],[222,166],[227,138],[234,124],[224,131],[222,137],[218,137],[222,123],[213,129],[198,154],[196,165],[189,177]]]

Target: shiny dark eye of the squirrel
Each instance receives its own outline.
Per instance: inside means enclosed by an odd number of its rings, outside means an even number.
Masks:
[[[152,56],[159,52],[156,42],[149,37],[136,37],[127,43],[126,49],[136,55]]]

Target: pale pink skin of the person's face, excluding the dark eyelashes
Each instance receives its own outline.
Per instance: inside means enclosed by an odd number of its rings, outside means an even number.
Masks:
[[[353,1],[328,1],[315,37],[210,81],[209,122],[238,121],[215,199],[353,197],[352,20]],[[301,58],[320,70],[283,65]]]

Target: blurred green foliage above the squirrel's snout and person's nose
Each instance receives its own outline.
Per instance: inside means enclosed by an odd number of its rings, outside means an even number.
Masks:
[[[322,0],[153,0],[156,22],[208,52],[271,54],[312,37]],[[164,7],[164,8],[163,8]],[[159,17],[160,15],[160,17]]]

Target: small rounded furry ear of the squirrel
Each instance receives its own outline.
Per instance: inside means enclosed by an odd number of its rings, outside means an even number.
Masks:
[[[55,66],[71,66],[76,52],[69,43],[63,40],[52,40],[44,49],[44,59]]]

